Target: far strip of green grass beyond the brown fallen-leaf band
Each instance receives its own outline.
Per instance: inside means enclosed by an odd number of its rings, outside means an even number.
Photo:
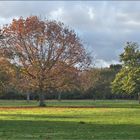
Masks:
[[[38,106],[37,101],[26,100],[0,100],[0,107],[32,107]],[[109,108],[140,108],[138,101],[136,100],[46,100],[48,107],[52,106],[92,106],[92,107],[109,107]]]

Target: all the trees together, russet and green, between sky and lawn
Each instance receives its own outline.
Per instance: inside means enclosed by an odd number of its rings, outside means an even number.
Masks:
[[[73,30],[61,22],[41,20],[36,16],[21,17],[1,30],[0,91],[14,89],[25,95],[34,93],[35,98],[38,93],[40,106],[45,105],[44,97],[112,99],[138,96],[139,45],[128,42],[120,60],[122,65],[89,69],[91,58]]]

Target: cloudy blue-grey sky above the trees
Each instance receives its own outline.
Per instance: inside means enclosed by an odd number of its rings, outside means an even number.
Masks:
[[[1,1],[0,26],[37,15],[74,29],[97,67],[119,63],[126,42],[140,43],[140,1]]]

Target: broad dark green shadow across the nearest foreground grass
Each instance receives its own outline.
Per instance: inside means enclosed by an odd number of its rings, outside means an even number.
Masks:
[[[1,120],[0,140],[139,140],[140,125]]]

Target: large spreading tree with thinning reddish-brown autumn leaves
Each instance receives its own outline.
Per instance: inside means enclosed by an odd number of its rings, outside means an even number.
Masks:
[[[76,72],[83,70],[90,62],[75,31],[61,22],[21,17],[3,27],[2,36],[0,46],[5,56],[21,67],[22,75],[38,90],[40,106],[45,105],[44,92],[58,86],[55,83],[64,79],[64,72],[73,71],[72,67]]]

